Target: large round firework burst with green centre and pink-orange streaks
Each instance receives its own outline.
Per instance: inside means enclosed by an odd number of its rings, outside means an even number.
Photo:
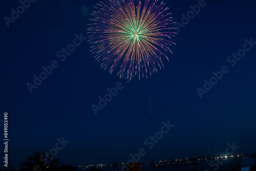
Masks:
[[[172,17],[168,17],[171,13],[166,13],[169,8],[164,8],[163,2],[153,0],[150,5],[150,0],[145,0],[142,7],[140,0],[137,6],[135,0],[105,0],[97,5],[88,41],[93,44],[91,51],[96,61],[101,61],[101,68],[110,68],[112,74],[120,66],[120,78],[127,74],[131,79],[133,73],[140,78],[157,72],[157,66],[161,69],[161,56],[169,60],[162,51],[172,53],[169,46],[175,43],[169,39],[177,33],[169,27]]]

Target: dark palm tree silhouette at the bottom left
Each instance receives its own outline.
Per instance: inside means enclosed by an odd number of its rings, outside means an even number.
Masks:
[[[51,159],[52,154],[47,156],[46,152],[42,154],[37,150],[33,155],[28,156],[27,160],[20,166],[21,171],[23,170],[36,170],[36,171],[53,171],[60,163],[59,159]]]

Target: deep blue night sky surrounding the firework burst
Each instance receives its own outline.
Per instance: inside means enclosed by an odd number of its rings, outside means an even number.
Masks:
[[[228,144],[239,146],[235,153],[256,151],[256,2],[205,0],[189,21],[184,16],[200,1],[164,2],[179,32],[173,54],[157,73],[131,81],[101,69],[90,52],[87,29],[99,1],[32,1],[9,23],[21,4],[0,2],[0,123],[4,131],[8,113],[9,165],[37,149],[61,164],[206,155],[205,144],[211,154],[212,145],[217,154]],[[58,57],[77,37],[75,50]],[[50,74],[29,90],[44,67]],[[92,105],[116,87],[95,112]]]

